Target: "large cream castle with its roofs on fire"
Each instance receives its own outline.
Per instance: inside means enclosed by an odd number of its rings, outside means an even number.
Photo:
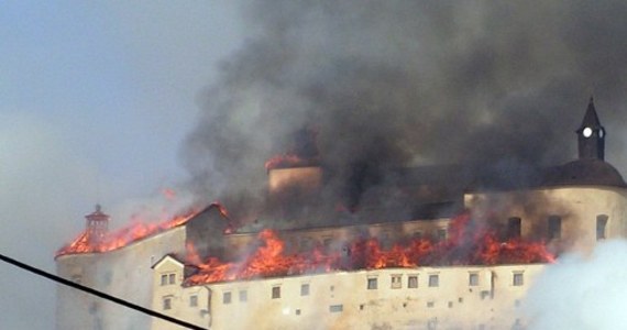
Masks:
[[[340,199],[314,135],[266,163],[255,219],[212,204],[108,232],[97,208],[58,274],[208,329],[503,329],[532,322],[518,307],[560,253],[627,235],[627,185],[604,161],[592,99],[564,165],[363,167]],[[57,329],[178,329],[79,292],[61,289],[57,306]]]

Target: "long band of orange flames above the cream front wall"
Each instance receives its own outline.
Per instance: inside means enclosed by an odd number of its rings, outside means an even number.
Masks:
[[[237,262],[222,262],[216,257],[202,262],[196,249],[188,244],[187,263],[196,266],[198,272],[189,276],[185,285],[364,268],[554,262],[542,242],[519,238],[501,241],[494,232],[474,229],[471,224],[469,213],[463,213],[451,220],[449,238],[444,241],[414,239],[385,250],[378,240],[367,238],[349,244],[344,255],[324,252],[320,246],[305,253],[287,254],[284,241],[271,230],[262,231],[257,238],[258,248]]]

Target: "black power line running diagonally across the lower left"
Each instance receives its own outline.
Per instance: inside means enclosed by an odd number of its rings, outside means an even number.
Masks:
[[[69,279],[65,279],[65,278],[63,278],[63,277],[59,277],[59,276],[56,276],[56,275],[54,275],[54,274],[47,273],[47,272],[42,271],[42,270],[40,270],[40,268],[35,268],[35,267],[30,266],[30,265],[28,265],[28,264],[21,263],[21,262],[14,260],[14,258],[8,257],[8,256],[6,256],[6,255],[0,254],[0,260],[3,261],[3,262],[6,262],[6,263],[9,263],[9,264],[11,264],[11,265],[13,265],[13,266],[16,266],[16,267],[19,267],[19,268],[29,271],[29,272],[34,273],[34,274],[36,274],[36,275],[46,277],[46,278],[48,278],[48,279],[52,279],[52,280],[54,280],[54,282],[61,283],[61,284],[63,284],[63,285],[66,285],[66,286],[69,286],[69,287],[76,288],[76,289],[79,289],[79,290],[81,290],[81,292],[86,292],[86,293],[88,293],[88,294],[90,294],[90,295],[94,295],[94,296],[97,296],[97,297],[100,297],[100,298],[103,298],[103,299],[113,301],[113,302],[119,304],[119,305],[122,305],[122,306],[124,306],[124,307],[127,307],[127,308],[131,308],[131,309],[134,309],[134,310],[136,310],[136,311],[143,312],[143,314],[147,314],[147,315],[150,315],[150,316],[152,316],[152,317],[160,318],[160,319],[163,319],[163,320],[166,320],[166,321],[176,323],[176,324],[178,324],[178,326],[182,326],[182,327],[185,327],[185,328],[188,328],[188,329],[194,329],[194,330],[207,330],[206,328],[201,328],[201,327],[198,327],[198,326],[196,326],[196,324],[188,323],[188,322],[186,322],[186,321],[183,321],[183,320],[179,320],[179,319],[169,317],[169,316],[167,316],[167,315],[161,314],[161,312],[158,312],[158,311],[154,311],[154,310],[152,310],[152,309],[147,309],[147,308],[145,308],[145,307],[142,307],[142,306],[139,306],[139,305],[129,302],[129,301],[123,300],[123,299],[120,299],[120,298],[118,298],[118,297],[113,297],[113,296],[111,296],[111,295],[108,295],[108,294],[105,294],[105,293],[102,293],[102,292],[92,289],[92,288],[90,288],[90,287],[80,285],[80,284],[78,284],[78,283],[74,283],[74,282],[72,282],[72,280],[69,280]]]

